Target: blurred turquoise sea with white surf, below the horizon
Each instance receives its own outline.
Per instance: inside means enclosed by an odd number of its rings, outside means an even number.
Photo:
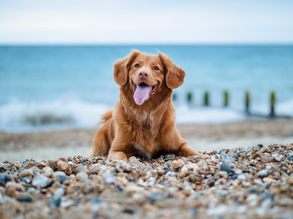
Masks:
[[[252,113],[269,114],[275,91],[276,114],[293,116],[292,45],[0,46],[0,131],[95,127],[119,98],[113,64],[131,49],[159,50],[185,70],[183,85],[173,91],[177,123],[248,119],[246,91]]]

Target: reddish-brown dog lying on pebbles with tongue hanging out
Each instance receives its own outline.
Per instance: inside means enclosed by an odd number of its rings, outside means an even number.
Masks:
[[[124,160],[134,155],[152,159],[161,154],[209,156],[191,149],[175,126],[172,89],[183,83],[185,72],[159,52],[132,51],[114,64],[120,100],[103,115],[103,126],[93,139],[91,157]]]

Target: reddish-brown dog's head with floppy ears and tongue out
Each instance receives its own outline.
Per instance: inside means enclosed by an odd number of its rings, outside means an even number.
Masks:
[[[158,55],[147,55],[132,51],[114,64],[116,83],[133,90],[137,105],[142,105],[151,95],[179,87],[184,77],[184,70],[160,52]]]

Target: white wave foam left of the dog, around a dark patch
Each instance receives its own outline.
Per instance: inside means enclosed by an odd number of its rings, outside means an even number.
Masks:
[[[110,107],[104,104],[82,101],[43,103],[12,101],[0,106],[0,130],[19,132],[94,127],[100,116],[108,109]],[[53,117],[50,124],[38,123],[36,126],[30,122],[32,118],[38,120],[46,116]],[[63,123],[62,118],[65,118]]]

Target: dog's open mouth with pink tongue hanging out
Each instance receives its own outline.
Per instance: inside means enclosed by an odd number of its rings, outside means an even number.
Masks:
[[[133,85],[133,98],[137,105],[142,105],[147,98],[149,98],[150,95],[154,94],[158,85],[149,86],[146,83],[142,82],[140,84],[134,84]]]

